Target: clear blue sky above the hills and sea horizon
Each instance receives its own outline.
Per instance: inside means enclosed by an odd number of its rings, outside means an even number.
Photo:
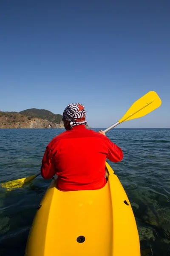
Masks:
[[[155,90],[159,109],[119,128],[170,128],[170,1],[0,1],[0,110],[85,105],[108,127]]]

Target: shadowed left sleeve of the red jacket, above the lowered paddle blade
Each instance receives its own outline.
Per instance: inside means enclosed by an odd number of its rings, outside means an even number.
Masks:
[[[52,161],[51,148],[47,147],[42,158],[41,175],[44,179],[51,179],[55,175],[55,165]]]

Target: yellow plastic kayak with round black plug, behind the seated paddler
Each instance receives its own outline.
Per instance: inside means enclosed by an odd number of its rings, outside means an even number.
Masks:
[[[99,190],[61,192],[54,177],[35,215],[25,256],[140,256],[130,202],[106,162]]]

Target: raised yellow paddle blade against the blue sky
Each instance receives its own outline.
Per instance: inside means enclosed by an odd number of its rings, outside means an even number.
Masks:
[[[119,120],[119,123],[142,117],[150,113],[161,105],[161,99],[154,91],[150,91],[131,105],[125,115]]]

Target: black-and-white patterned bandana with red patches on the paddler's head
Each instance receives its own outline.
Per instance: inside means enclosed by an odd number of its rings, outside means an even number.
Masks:
[[[76,125],[86,125],[85,117],[85,107],[80,103],[71,103],[65,108],[62,114],[62,121],[67,119],[70,121],[71,128],[73,128]]]

